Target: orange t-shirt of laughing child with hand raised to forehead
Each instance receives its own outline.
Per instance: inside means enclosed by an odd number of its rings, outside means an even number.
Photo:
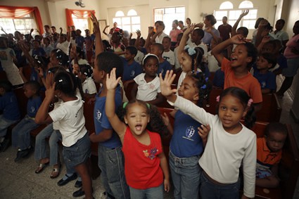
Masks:
[[[250,72],[245,77],[236,78],[234,70],[231,68],[231,62],[227,58],[222,59],[221,70],[224,72],[224,89],[236,86],[246,91],[248,96],[253,99],[253,103],[262,102],[260,83]]]

